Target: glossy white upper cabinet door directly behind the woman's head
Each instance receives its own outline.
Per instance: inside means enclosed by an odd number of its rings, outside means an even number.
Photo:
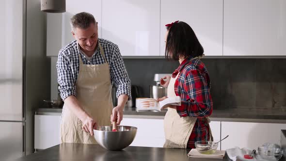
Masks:
[[[222,0],[161,0],[160,55],[165,55],[165,24],[188,23],[206,56],[222,56]]]

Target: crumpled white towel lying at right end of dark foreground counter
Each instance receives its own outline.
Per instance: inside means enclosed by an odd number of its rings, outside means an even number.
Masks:
[[[232,161],[267,161],[262,159],[258,154],[255,155],[253,159],[245,159],[244,155],[245,154],[251,154],[253,149],[250,148],[239,148],[239,147],[234,147],[230,149],[226,149],[227,156],[230,160]],[[257,153],[257,151],[256,151]]]

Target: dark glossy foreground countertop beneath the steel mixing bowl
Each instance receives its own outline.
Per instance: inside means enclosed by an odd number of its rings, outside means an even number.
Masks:
[[[187,156],[190,149],[128,146],[108,151],[100,145],[63,143],[20,158],[17,161],[228,161]]]

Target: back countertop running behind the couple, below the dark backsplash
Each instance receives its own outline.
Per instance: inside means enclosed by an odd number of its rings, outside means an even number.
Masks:
[[[62,109],[39,108],[36,114],[61,115]],[[124,118],[163,119],[166,111],[137,112],[136,108],[124,109]],[[283,109],[214,109],[209,117],[212,121],[259,122],[259,123],[286,123],[286,110]]]

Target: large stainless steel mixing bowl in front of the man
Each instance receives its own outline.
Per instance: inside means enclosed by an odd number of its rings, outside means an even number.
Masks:
[[[112,126],[101,126],[94,129],[96,142],[108,150],[121,150],[129,146],[136,135],[137,128],[130,126],[117,126],[117,131],[112,131]]]

